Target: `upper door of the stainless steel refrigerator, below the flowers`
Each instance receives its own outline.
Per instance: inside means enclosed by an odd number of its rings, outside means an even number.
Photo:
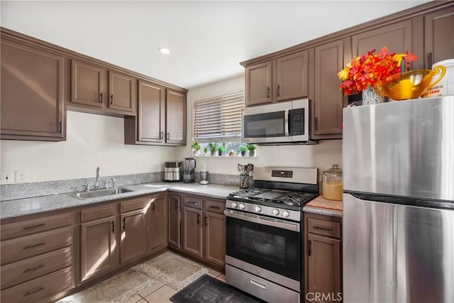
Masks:
[[[347,191],[454,200],[454,95],[343,109]]]

